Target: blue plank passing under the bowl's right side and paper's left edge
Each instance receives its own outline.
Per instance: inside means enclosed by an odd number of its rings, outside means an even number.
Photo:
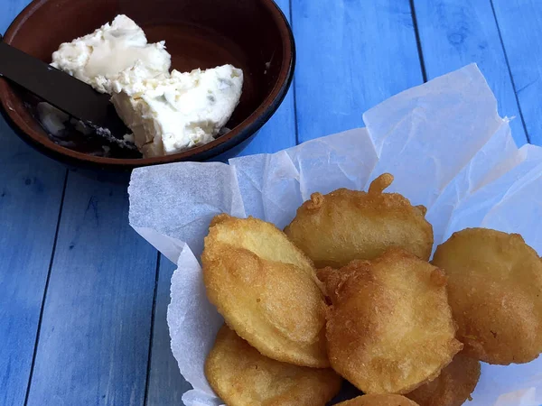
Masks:
[[[281,7],[289,20],[289,0],[278,0],[276,4]],[[293,86],[276,114],[262,127],[255,139],[248,144],[248,147],[241,155],[272,153],[295,145]],[[151,364],[147,378],[147,406],[182,404],[182,393],[192,387],[184,381],[182,374],[179,372],[179,367],[170,347],[169,330],[166,322],[167,306],[170,302],[170,284],[174,269],[175,265],[162,256],[155,300]]]

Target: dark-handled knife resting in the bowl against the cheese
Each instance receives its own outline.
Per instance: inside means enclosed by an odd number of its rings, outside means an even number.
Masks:
[[[0,76],[97,129],[100,136],[120,141],[125,134],[131,133],[117,115],[109,95],[98,93],[78,78],[8,45],[2,41],[1,34]]]

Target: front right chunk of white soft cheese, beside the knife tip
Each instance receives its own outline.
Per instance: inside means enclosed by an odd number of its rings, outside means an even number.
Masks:
[[[111,101],[144,157],[209,143],[238,105],[243,71],[232,65],[123,82]]]

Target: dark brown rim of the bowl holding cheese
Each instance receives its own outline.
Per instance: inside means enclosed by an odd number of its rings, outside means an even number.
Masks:
[[[14,21],[5,31],[4,42],[11,44],[28,17],[48,1],[50,0],[33,0],[29,5],[24,7],[23,11],[14,18]],[[259,106],[257,106],[256,110],[231,129],[229,133],[221,135],[210,143],[187,151],[152,158],[109,158],[73,151],[57,143],[53,143],[48,137],[43,137],[43,134],[34,130],[24,120],[23,116],[19,115],[17,110],[11,107],[14,100],[19,99],[19,97],[15,93],[14,85],[2,77],[0,77],[0,112],[7,124],[12,127],[15,134],[22,138],[23,141],[31,144],[39,152],[57,161],[64,161],[79,167],[98,167],[115,170],[178,161],[204,161],[216,157],[220,153],[226,152],[230,148],[244,142],[266,124],[269,118],[276,112],[278,106],[283,102],[294,78],[296,51],[292,27],[274,0],[258,1],[271,14],[283,42],[283,62],[278,73],[278,78],[275,86]]]

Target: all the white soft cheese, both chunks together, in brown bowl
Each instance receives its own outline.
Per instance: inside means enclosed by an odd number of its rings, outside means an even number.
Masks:
[[[147,43],[126,15],[52,54],[52,66],[112,95],[117,114],[133,131],[144,157],[209,143],[238,105],[243,71],[232,65],[169,73],[164,42]]]

